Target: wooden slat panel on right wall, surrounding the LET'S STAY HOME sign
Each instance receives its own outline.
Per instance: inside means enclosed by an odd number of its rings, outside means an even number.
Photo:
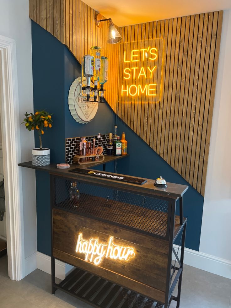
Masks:
[[[124,122],[202,195],[222,17],[219,11],[136,25],[134,41],[164,38],[161,99],[135,103],[133,122],[126,116],[130,104],[118,106]],[[124,42],[132,27],[120,29]]]

